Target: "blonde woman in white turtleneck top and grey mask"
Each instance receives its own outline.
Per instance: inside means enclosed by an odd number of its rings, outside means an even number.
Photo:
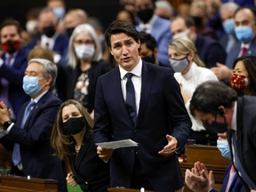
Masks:
[[[180,84],[181,94],[189,112],[189,100],[198,84],[208,80],[218,81],[212,70],[204,68],[204,63],[196,54],[195,44],[185,38],[174,39],[168,48],[170,65],[175,71],[174,77]],[[194,116],[190,116],[192,130],[189,139],[196,140],[196,144],[216,145],[216,133],[207,132],[203,124]]]

